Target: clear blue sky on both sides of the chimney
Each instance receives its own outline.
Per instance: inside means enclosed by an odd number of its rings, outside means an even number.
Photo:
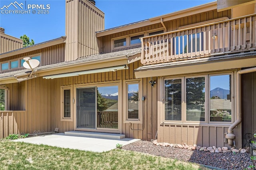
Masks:
[[[35,43],[65,36],[65,0],[16,0],[19,4],[50,4],[49,14],[2,14],[0,27],[5,33],[26,34]],[[145,20],[171,12],[206,4],[214,0],[96,0],[105,13],[105,29]],[[0,0],[0,8],[15,0]],[[9,8],[15,10],[15,8]]]

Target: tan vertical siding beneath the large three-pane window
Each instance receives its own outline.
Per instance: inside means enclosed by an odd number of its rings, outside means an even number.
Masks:
[[[228,131],[228,126],[221,125],[162,125],[158,126],[158,142],[168,142],[172,144],[197,144],[199,146],[227,146],[224,143],[224,133]],[[234,128],[237,136],[238,128]],[[239,143],[236,143],[238,145]]]

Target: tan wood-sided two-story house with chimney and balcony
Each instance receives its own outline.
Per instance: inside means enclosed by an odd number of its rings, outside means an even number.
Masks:
[[[256,130],[256,2],[241,2],[104,30],[93,0],[66,0],[66,36],[21,48],[2,31],[0,137],[58,128],[245,146]],[[40,65],[24,69],[24,57]],[[211,118],[218,110],[231,118]]]

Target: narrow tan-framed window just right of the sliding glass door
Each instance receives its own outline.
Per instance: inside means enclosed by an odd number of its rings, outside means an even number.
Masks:
[[[124,123],[142,123],[141,81],[125,82]]]

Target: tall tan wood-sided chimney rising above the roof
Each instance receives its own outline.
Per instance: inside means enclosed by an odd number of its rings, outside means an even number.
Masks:
[[[99,53],[95,32],[104,30],[104,13],[87,0],[66,1],[65,61]]]

